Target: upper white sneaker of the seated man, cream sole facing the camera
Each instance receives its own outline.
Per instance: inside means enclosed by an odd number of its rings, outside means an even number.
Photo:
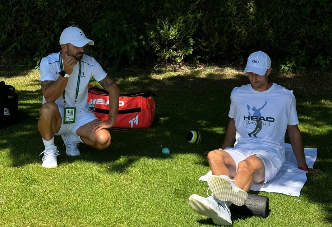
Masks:
[[[231,201],[237,206],[242,206],[248,198],[248,193],[232,183],[225,175],[212,175],[207,184],[212,194],[221,201]]]

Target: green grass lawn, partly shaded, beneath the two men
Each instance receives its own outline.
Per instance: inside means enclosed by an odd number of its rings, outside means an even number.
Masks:
[[[249,83],[245,74],[109,72],[122,93],[157,94],[152,126],[111,131],[109,148],[81,144],[79,157],[66,156],[57,136],[59,166],[44,169],[38,156],[44,150],[37,130],[39,72],[18,67],[0,72],[0,81],[17,89],[20,113],[15,125],[0,129],[0,226],[213,226],[191,209],[188,198],[206,195],[207,184],[198,181],[209,171],[204,152],[220,147],[230,93]],[[325,174],[308,175],[300,197],[258,192],[269,196],[269,216],[232,214],[233,226],[332,226],[331,78],[327,73],[269,77],[294,91],[304,146],[318,148],[314,167]],[[202,134],[201,143],[187,142],[191,130]],[[163,147],[170,155],[161,153]]]

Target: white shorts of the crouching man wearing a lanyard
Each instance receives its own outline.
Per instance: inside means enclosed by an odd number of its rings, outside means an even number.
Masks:
[[[63,113],[64,109],[62,107],[59,107],[59,112],[61,114],[62,124],[60,127],[60,130],[55,133],[55,135],[64,135],[68,133],[76,134],[76,130],[81,127],[82,125],[85,125],[86,123],[89,123],[90,121],[93,121],[95,119],[98,119],[95,114],[89,113],[89,112],[76,112],[75,116],[75,123],[72,124],[64,124],[63,123]]]

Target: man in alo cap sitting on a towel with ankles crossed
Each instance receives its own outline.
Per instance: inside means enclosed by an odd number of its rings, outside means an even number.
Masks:
[[[212,195],[189,197],[191,207],[216,224],[232,225],[229,206],[242,206],[253,182],[266,183],[277,175],[286,158],[286,129],[298,168],[320,173],[305,162],[293,92],[269,83],[271,70],[266,53],[249,56],[244,72],[250,84],[233,89],[225,140],[219,150],[207,155],[213,174],[207,181]]]

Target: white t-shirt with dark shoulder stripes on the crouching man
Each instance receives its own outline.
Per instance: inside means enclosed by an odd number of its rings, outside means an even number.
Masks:
[[[60,64],[59,64],[59,53],[53,53],[41,59],[40,64],[40,74],[41,81],[52,80],[55,81],[60,76]],[[63,63],[63,61],[62,61]],[[76,111],[78,112],[88,112],[89,104],[88,99],[88,89],[89,81],[93,77],[96,81],[101,81],[106,77],[106,72],[103,70],[101,65],[93,58],[88,55],[83,55],[81,60],[81,79],[79,85],[79,91],[76,102]],[[67,86],[65,88],[65,101],[67,107],[73,107],[76,94],[76,86],[79,72],[79,62],[74,66],[73,72],[70,74]],[[42,104],[46,103],[43,96]],[[59,107],[64,107],[63,96],[61,95],[55,103]]]

